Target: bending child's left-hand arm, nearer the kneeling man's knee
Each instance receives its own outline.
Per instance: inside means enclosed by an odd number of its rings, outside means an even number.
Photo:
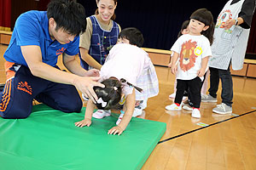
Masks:
[[[79,121],[79,122],[75,122],[75,126],[77,127],[90,127],[91,124],[91,117],[93,114],[93,111],[95,110],[95,105],[93,104],[92,100],[89,99],[86,105],[86,110],[85,110],[85,114],[84,114],[84,120]]]

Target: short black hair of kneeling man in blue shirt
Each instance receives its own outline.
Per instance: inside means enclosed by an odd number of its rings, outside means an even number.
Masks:
[[[84,7],[70,0],[51,0],[47,7],[48,19],[56,22],[56,31],[62,28],[71,35],[79,36],[86,29]]]

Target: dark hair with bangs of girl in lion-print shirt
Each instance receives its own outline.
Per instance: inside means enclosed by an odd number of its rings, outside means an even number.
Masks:
[[[193,14],[191,14],[190,19],[199,20],[209,26],[207,31],[201,31],[201,34],[209,39],[210,44],[213,42],[213,33],[214,33],[214,22],[212,13],[207,10],[207,8],[197,9]]]

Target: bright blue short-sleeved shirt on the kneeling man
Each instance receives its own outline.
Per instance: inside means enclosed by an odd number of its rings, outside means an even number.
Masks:
[[[49,20],[46,11],[28,11],[20,14],[16,20],[9,47],[3,54],[4,59],[20,65],[26,65],[20,46],[37,45],[41,48],[44,63],[55,66],[62,53],[75,55],[79,53],[79,37],[73,42],[61,44],[49,37]]]

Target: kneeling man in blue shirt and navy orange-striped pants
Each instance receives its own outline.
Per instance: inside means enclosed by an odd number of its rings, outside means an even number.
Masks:
[[[85,18],[84,7],[67,0],[52,0],[47,12],[20,15],[3,55],[7,82],[0,93],[0,116],[26,118],[33,99],[59,111],[79,112],[82,101],[77,89],[96,101],[93,87],[104,87],[96,82],[99,72],[85,71],[75,60]],[[56,66],[60,54],[71,73]]]

